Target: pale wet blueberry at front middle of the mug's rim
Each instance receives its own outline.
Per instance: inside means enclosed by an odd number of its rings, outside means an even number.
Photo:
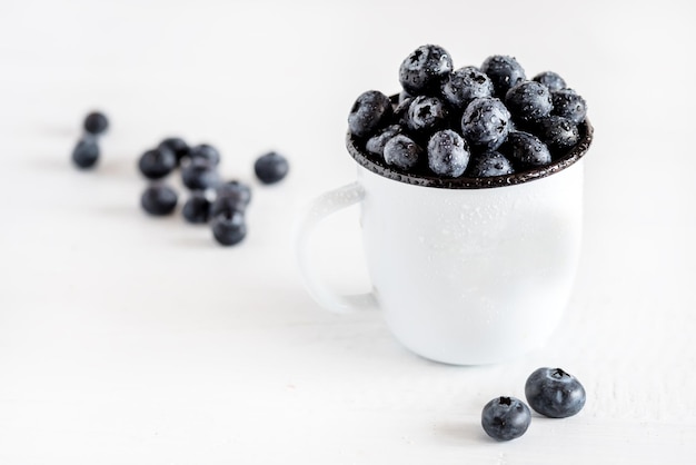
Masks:
[[[435,132],[428,141],[428,167],[436,175],[456,178],[461,176],[469,162],[469,147],[461,136],[451,129]]]

